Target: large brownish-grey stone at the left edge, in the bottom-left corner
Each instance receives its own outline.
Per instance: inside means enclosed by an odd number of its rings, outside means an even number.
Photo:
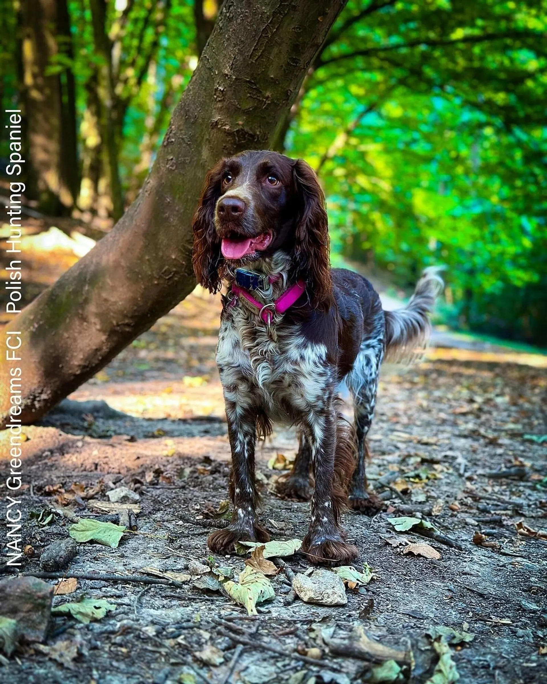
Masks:
[[[38,577],[0,581],[0,607],[5,618],[17,620],[29,642],[43,642],[49,627],[53,586]]]

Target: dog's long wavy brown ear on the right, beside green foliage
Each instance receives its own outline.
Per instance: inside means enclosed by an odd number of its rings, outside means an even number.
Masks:
[[[295,257],[313,306],[326,311],[333,302],[325,196],[312,168],[302,159],[293,166],[299,213]]]

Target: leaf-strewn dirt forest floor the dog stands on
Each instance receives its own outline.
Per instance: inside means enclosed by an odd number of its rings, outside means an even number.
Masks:
[[[111,610],[90,624],[55,614],[46,645],[0,656],[0,681],[406,681],[412,650],[410,681],[424,684],[438,663],[430,636],[438,627],[464,641],[445,648],[434,684],[455,681],[450,658],[463,683],[547,681],[547,357],[443,347],[414,367],[384,368],[368,474],[386,510],[343,516],[360,549],[356,568],[369,564],[373,578],[346,589],[347,605],[304,603],[289,579],[310,567],[297,551],[269,578],[275,598],[249,617],[196,565],[230,566],[237,577],[245,560],[211,556],[206,546],[211,529],[226,524],[217,512],[230,460],[218,321],[216,298],[191,295],[70,402],[25,428],[24,573],[40,575],[40,554],[68,538],[75,517],[116,523],[107,494],[122,486],[134,492],[137,529],[116,549],[78,544],[61,572],[127,579],[65,580],[67,593],[53,598],[55,606],[106,599]],[[308,503],[275,493],[295,447],[284,429],[258,447],[261,519],[276,540],[302,540],[308,525]],[[425,538],[416,525],[397,531],[390,520],[399,516],[430,521],[441,536]],[[411,544],[436,557],[414,555]],[[403,653],[399,680],[375,667],[388,646]]]

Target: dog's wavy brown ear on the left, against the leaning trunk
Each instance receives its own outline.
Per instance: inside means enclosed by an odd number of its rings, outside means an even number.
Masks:
[[[218,292],[222,285],[218,272],[222,254],[220,253],[220,239],[215,229],[215,207],[221,194],[223,166],[224,160],[221,160],[206,175],[200,203],[192,222],[194,273],[199,284],[213,294]]]

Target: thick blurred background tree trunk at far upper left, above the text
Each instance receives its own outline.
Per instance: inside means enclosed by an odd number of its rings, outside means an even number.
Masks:
[[[78,192],[74,75],[70,68],[51,73],[59,52],[72,57],[66,0],[24,0],[19,21],[28,194],[40,211],[61,215],[70,212]]]

